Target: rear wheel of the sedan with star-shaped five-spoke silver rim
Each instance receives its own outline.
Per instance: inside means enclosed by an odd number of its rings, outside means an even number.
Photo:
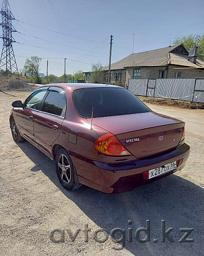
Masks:
[[[82,186],[78,182],[77,171],[65,148],[59,148],[55,156],[55,167],[59,182],[66,190],[75,190]]]

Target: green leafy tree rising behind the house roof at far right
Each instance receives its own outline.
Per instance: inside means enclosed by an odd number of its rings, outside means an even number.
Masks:
[[[189,50],[192,45],[198,46],[198,58],[204,61],[204,34],[203,35],[192,35],[177,37],[173,44],[182,44],[186,50]]]

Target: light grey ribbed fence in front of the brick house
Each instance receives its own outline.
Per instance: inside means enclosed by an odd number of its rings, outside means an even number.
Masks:
[[[204,79],[129,79],[128,90],[137,96],[204,103]]]

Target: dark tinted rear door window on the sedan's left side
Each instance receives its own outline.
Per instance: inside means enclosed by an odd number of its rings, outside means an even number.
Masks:
[[[57,116],[65,116],[66,95],[63,89],[53,90],[47,94],[42,104],[41,111]]]

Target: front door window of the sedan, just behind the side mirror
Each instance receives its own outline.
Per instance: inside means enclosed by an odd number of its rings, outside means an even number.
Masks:
[[[27,98],[25,102],[25,107],[39,110],[39,108],[41,107],[43,97],[45,96],[46,93],[47,93],[46,89],[37,90]]]

